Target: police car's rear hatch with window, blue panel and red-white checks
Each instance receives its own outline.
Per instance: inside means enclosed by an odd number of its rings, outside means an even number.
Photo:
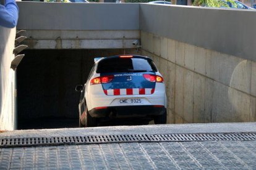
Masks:
[[[109,57],[98,63],[97,73],[110,79],[103,83],[106,95],[145,95],[153,94],[157,69],[151,59],[146,57]]]

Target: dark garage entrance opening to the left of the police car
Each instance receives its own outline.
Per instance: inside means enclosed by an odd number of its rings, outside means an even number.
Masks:
[[[18,129],[78,127],[75,86],[85,83],[95,57],[119,54],[124,49],[25,51],[17,69]]]

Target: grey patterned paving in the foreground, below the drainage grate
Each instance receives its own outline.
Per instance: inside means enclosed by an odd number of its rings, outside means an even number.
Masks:
[[[256,169],[256,141],[0,148],[0,169]]]

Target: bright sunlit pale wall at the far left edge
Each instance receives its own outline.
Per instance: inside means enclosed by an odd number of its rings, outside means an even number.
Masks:
[[[11,70],[14,59],[15,28],[0,26],[0,130],[15,129],[15,72]]]

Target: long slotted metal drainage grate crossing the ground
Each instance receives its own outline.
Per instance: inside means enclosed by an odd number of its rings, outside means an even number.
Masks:
[[[120,142],[203,142],[210,140],[256,140],[256,132],[224,134],[131,134],[106,136],[27,137],[0,139],[0,147],[104,144]]]

